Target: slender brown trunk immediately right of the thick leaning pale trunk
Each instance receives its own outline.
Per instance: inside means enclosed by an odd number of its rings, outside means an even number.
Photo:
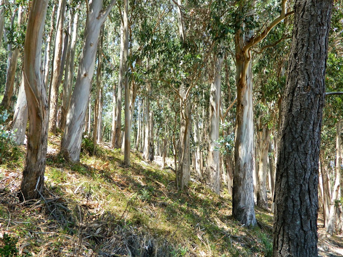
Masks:
[[[96,139],[98,137],[98,122],[99,115],[99,103],[100,103],[100,87],[101,87],[101,65],[102,65],[102,53],[104,42],[104,27],[100,31],[100,41],[98,44],[98,67],[96,69],[96,96],[94,104],[94,123],[93,123],[93,155],[95,154]]]

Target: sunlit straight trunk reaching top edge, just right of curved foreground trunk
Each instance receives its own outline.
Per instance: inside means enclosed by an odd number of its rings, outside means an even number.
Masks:
[[[64,16],[66,15],[67,0],[58,1],[57,22],[55,34],[55,51],[51,68],[51,81],[49,88],[49,131],[56,134],[57,111],[58,111],[58,89],[61,84],[60,72],[62,61]]]

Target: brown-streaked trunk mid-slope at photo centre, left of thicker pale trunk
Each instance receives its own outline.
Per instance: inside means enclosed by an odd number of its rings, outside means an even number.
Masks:
[[[180,99],[180,144],[179,144],[179,175],[180,188],[184,188],[188,184],[190,173],[190,109],[191,104],[189,98],[186,98],[187,88],[182,83],[179,88]]]

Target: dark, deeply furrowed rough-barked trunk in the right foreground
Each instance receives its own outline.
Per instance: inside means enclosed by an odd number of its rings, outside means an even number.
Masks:
[[[318,256],[318,163],[332,0],[296,0],[275,183],[274,257]]]

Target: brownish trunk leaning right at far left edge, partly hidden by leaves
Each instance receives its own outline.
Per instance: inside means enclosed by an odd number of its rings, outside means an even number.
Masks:
[[[18,20],[17,24],[20,27],[25,20],[25,13],[22,6],[18,9]],[[7,67],[7,75],[6,75],[6,88],[5,93],[1,102],[1,106],[5,110],[9,110],[12,101],[13,101],[13,92],[14,92],[14,81],[15,81],[15,72],[17,70],[17,63],[19,58],[19,48],[15,48],[12,51],[11,58],[9,59],[8,67]]]

